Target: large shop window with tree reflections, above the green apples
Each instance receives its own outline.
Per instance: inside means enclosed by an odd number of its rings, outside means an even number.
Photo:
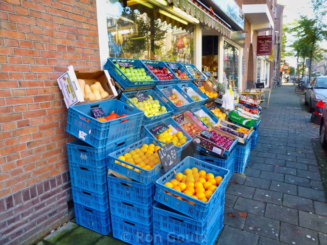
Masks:
[[[194,62],[193,24],[148,1],[108,1],[109,56]]]

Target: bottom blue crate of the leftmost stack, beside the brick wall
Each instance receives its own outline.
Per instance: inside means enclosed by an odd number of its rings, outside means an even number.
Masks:
[[[98,211],[78,203],[74,203],[74,208],[77,224],[102,235],[111,232],[109,208],[106,211]]]

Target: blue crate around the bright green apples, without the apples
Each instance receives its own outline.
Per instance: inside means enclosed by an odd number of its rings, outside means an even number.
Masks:
[[[144,68],[146,75],[149,75],[153,81],[132,81],[124,73],[116,71],[117,68],[114,62],[130,62],[135,68]],[[124,88],[154,86],[159,79],[147,68],[147,66],[139,59],[122,59],[122,58],[108,58],[104,69],[108,70],[110,75]]]

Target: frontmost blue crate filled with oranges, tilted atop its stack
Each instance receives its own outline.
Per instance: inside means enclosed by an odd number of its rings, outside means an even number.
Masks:
[[[198,221],[224,206],[229,170],[187,156],[157,180],[154,199]]]

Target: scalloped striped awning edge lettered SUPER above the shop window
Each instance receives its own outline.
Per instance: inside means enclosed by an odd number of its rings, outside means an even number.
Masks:
[[[167,0],[168,3],[173,3],[176,8],[180,8],[187,14],[198,19],[201,23],[208,25],[215,31],[220,32],[228,38],[231,38],[231,30],[213,17],[213,13],[201,6],[196,1],[192,0]]]

